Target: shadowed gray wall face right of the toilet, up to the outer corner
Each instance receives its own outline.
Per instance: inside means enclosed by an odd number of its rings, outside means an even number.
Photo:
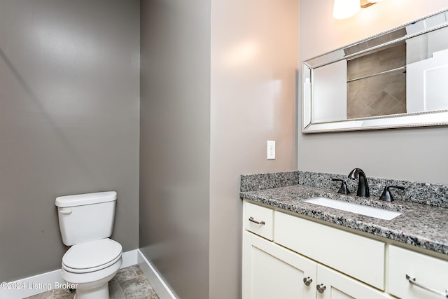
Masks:
[[[141,1],[140,249],[209,293],[210,1]]]

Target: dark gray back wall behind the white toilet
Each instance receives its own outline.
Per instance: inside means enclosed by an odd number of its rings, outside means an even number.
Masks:
[[[60,268],[55,197],[118,192],[138,246],[139,1],[0,0],[0,281]]]

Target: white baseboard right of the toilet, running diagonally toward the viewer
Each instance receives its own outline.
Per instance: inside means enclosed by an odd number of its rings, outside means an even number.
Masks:
[[[153,286],[155,293],[158,294],[160,299],[176,299],[176,295],[169,288],[167,283],[162,279],[162,276],[155,270],[155,267],[150,263],[148,259],[141,253],[140,249],[137,249],[137,263],[140,269],[144,272],[151,286]]]

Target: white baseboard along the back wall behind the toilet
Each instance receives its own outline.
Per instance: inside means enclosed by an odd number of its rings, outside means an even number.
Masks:
[[[123,252],[122,268],[137,265],[140,251],[134,249]],[[55,288],[66,288],[62,280],[61,270],[54,270],[16,281],[0,284],[0,299],[22,299],[38,293],[50,291]]]

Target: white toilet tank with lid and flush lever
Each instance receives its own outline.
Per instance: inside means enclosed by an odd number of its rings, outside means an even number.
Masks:
[[[115,191],[57,197],[62,242],[71,246],[110,237],[116,200]]]

